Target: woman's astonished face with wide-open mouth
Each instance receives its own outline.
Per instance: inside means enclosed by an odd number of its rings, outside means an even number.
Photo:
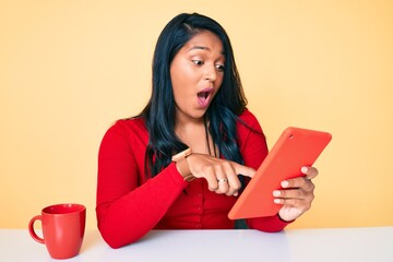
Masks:
[[[221,39],[209,31],[194,35],[170,64],[176,121],[202,120],[224,78]]]

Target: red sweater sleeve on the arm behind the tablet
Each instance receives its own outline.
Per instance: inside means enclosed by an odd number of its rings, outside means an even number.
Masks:
[[[242,116],[246,126],[240,126],[240,150],[242,152],[245,165],[258,169],[264,158],[267,156],[269,150],[266,139],[257,118],[248,110]],[[278,215],[269,217],[255,217],[246,219],[248,226],[262,231],[281,231],[289,223],[282,221]]]

